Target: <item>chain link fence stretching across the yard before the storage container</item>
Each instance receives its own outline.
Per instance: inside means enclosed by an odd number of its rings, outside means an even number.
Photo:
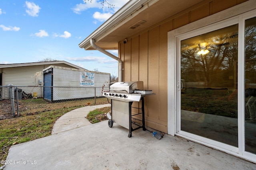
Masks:
[[[0,119],[9,114],[33,114],[72,106],[108,104],[102,96],[109,86],[0,86]]]

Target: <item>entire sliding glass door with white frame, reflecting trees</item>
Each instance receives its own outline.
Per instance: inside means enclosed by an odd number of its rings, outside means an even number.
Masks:
[[[256,162],[256,10],[208,19],[168,32],[168,131]]]

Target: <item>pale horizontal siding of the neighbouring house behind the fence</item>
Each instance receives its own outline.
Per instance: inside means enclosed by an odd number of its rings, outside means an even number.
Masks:
[[[66,64],[56,65],[66,66]],[[16,86],[18,84],[18,88],[21,88],[22,91],[25,91],[27,94],[29,94],[31,93],[31,88],[23,89],[19,86],[40,86],[39,80],[43,80],[43,73],[39,78],[36,78],[36,81],[34,74],[36,74],[36,72],[43,71],[44,68],[47,68],[49,66],[50,64],[2,68],[2,71],[4,72],[4,82],[2,82],[2,84],[3,86],[8,86],[8,84]],[[9,89],[4,89],[5,90],[2,99],[9,99]],[[35,92],[38,93],[38,97],[42,97],[42,90],[37,90]]]

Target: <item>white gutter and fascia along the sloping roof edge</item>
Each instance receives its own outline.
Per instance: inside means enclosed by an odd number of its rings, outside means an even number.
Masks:
[[[120,10],[113,14],[108,20],[106,20],[100,27],[92,32],[84,41],[79,44],[80,48],[88,49],[90,47],[90,39],[97,39],[102,37],[103,34],[109,32],[108,30],[124,20],[130,14],[142,8],[143,4],[150,0],[130,0]]]

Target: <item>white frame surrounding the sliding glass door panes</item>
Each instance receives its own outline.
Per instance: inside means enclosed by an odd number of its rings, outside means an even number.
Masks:
[[[180,40],[188,34],[207,33],[212,29],[220,29],[235,23],[244,23],[244,20],[252,18],[256,15],[255,8],[256,0],[249,0],[222,12],[208,16],[201,20],[195,21],[188,25],[184,25],[178,29],[168,32],[168,134],[179,135],[184,138],[202,143],[203,145],[213,147],[218,150],[248,159],[256,162],[256,154],[251,154],[244,151],[244,115],[238,114],[238,148],[212,141],[196,135],[180,133],[180,113],[178,113],[178,94],[177,94],[177,62],[180,55]],[[191,31],[192,30],[192,31]],[[244,25],[239,25],[238,45],[244,47]],[[238,56],[244,56],[244,48],[238,49]],[[238,57],[238,73],[244,72],[244,59]],[[244,74],[238,74],[238,80],[244,80]],[[238,82],[238,113],[244,112],[244,82]],[[242,112],[241,112],[242,111]]]

